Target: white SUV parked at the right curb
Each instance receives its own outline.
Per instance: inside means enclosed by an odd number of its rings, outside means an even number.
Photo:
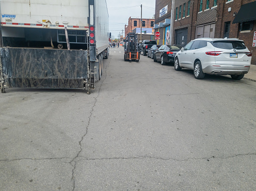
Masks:
[[[194,70],[196,79],[205,73],[230,75],[240,80],[250,69],[252,53],[242,40],[233,38],[197,38],[176,54],[174,68]]]

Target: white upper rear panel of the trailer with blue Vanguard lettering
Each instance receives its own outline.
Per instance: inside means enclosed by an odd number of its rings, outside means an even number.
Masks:
[[[68,28],[84,30],[88,28],[88,1],[2,0],[0,3],[2,26],[45,28],[44,25],[36,26],[36,24],[49,20],[51,22],[48,23],[49,28],[63,27],[65,22],[68,22]]]

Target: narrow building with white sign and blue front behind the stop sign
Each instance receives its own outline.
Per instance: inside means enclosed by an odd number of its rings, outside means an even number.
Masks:
[[[174,15],[174,0],[155,1],[155,32],[160,32],[159,45],[171,44],[172,39],[172,17]]]

